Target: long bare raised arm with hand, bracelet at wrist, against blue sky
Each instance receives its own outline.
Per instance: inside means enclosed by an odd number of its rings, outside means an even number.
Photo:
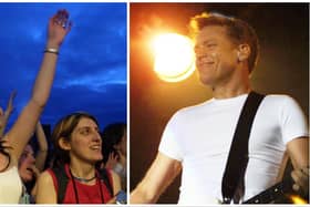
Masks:
[[[65,10],[59,11],[49,21],[46,49],[59,50],[64,37],[70,31],[70,27],[63,28]],[[32,95],[12,128],[8,132],[8,139],[12,146],[11,156],[18,161],[24,146],[29,142],[39,117],[50,96],[52,87],[58,54],[44,52],[41,68],[37,75]]]

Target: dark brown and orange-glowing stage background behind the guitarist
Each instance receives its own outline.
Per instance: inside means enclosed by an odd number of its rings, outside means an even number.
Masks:
[[[309,108],[308,3],[131,3],[130,12],[130,135],[131,189],[151,166],[169,117],[179,108],[204,102],[211,91],[195,72],[178,83],[161,81],[153,72],[149,39],[158,30],[187,34],[189,18],[217,11],[248,21],[260,40],[260,59],[252,72],[252,87],[261,93],[294,97]],[[159,204],[178,199],[179,177]]]

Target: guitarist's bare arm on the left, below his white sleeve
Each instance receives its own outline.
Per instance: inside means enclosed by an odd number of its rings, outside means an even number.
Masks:
[[[179,161],[158,153],[145,177],[131,193],[131,204],[154,204],[180,173]]]

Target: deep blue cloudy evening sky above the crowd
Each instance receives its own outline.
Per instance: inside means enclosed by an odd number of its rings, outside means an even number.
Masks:
[[[46,24],[66,9],[73,22],[41,116],[51,124],[86,111],[101,128],[126,122],[126,3],[0,3],[0,106],[17,90],[9,127],[30,97],[45,46]]]

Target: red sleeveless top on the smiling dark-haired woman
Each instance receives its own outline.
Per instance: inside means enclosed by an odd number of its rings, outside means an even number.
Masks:
[[[70,176],[69,165],[66,164],[64,166],[64,168],[65,168],[66,176],[69,177],[69,180],[68,180],[65,195],[64,195],[64,199],[63,199],[62,204],[76,204],[78,199],[75,198],[74,186],[73,186],[72,178]],[[50,173],[50,175],[53,178],[54,188],[58,194],[59,187],[58,187],[58,179],[55,177],[55,174],[51,169],[48,169],[48,172]],[[107,169],[107,176],[108,176],[111,186],[113,186],[113,179],[111,177],[111,172],[108,169]],[[107,187],[105,186],[103,180],[99,178],[99,176],[96,178],[95,185],[92,185],[92,186],[80,183],[76,179],[74,179],[74,182],[75,182],[76,193],[79,196],[80,204],[102,204],[101,192],[103,193],[104,204],[112,198]],[[101,184],[100,184],[100,182],[101,182]],[[100,190],[100,187],[102,190]]]

